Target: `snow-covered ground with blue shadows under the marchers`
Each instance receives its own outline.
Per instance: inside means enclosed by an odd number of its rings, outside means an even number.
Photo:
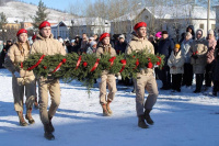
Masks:
[[[50,142],[44,138],[38,110],[33,111],[34,125],[19,125],[11,80],[1,69],[0,146],[219,146],[219,98],[194,94],[194,89],[160,91],[151,113],[155,123],[142,130],[137,126],[131,87],[118,86],[114,114],[104,117],[97,88],[89,98],[80,82],[61,83],[61,104],[53,119],[56,139]]]

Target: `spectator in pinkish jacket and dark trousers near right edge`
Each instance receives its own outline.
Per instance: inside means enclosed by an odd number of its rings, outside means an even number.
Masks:
[[[215,50],[217,41],[215,38],[215,33],[212,30],[208,31],[208,52],[207,52],[207,65],[206,65],[206,74],[205,74],[205,86],[206,88],[211,87],[211,70],[212,70],[212,61],[215,59]]]

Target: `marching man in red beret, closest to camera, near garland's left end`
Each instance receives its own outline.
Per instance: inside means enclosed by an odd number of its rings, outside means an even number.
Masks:
[[[50,23],[44,21],[39,24],[39,34],[36,36],[36,41],[32,45],[31,54],[44,54],[44,55],[66,55],[66,50],[61,43],[54,40],[51,34]],[[51,76],[37,77],[38,88],[39,88],[39,115],[42,123],[44,124],[44,136],[47,139],[55,139],[53,135],[54,126],[51,124],[51,119],[56,113],[60,104],[60,85],[58,79],[54,79]],[[48,92],[50,93],[51,104],[49,110],[48,106]]]

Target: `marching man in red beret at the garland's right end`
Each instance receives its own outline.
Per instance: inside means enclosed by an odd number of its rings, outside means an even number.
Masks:
[[[134,30],[136,31],[136,35],[132,36],[130,43],[127,46],[127,55],[131,54],[132,52],[154,54],[153,45],[146,37],[146,27],[147,23],[145,22],[139,22],[135,25]],[[146,102],[145,89],[149,93]],[[158,86],[155,82],[155,78],[153,77],[153,69],[142,68],[141,71],[137,74],[136,81],[136,110],[138,115],[139,127],[148,128],[148,125],[146,124],[145,120],[148,124],[153,124],[153,121],[150,117],[150,112],[157,102],[158,93]]]

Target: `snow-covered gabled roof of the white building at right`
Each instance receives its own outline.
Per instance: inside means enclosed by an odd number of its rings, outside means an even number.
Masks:
[[[207,19],[207,9],[198,5],[191,4],[177,4],[177,5],[155,5],[155,7],[146,7],[139,10],[132,11],[125,15],[114,19],[115,21],[132,21],[141,12],[148,10],[154,15],[155,19]],[[216,12],[210,11],[210,19],[216,19]]]

